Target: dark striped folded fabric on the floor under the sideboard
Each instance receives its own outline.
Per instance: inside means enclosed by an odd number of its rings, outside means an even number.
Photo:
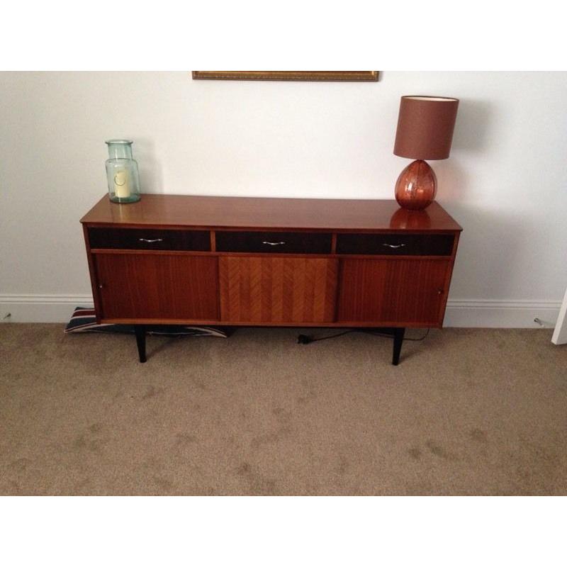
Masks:
[[[148,335],[164,335],[167,337],[228,337],[226,327],[189,327],[187,325],[146,325]],[[94,309],[76,307],[65,332],[121,332],[133,333],[134,325],[115,325],[113,323],[96,322]]]

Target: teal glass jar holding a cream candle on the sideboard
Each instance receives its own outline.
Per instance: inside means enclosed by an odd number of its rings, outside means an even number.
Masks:
[[[107,140],[106,179],[108,196],[114,203],[140,201],[140,175],[132,157],[132,140]]]

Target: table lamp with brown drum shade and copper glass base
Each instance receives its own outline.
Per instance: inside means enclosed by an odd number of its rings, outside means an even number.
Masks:
[[[437,178],[425,159],[447,159],[459,99],[444,96],[402,96],[394,154],[415,159],[395,183],[400,207],[421,210],[437,193]]]

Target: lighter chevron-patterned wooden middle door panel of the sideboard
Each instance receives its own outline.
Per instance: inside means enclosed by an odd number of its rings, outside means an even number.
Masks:
[[[336,259],[221,256],[221,320],[332,322],[337,273]]]

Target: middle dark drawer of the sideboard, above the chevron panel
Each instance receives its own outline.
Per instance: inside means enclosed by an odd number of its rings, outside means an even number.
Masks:
[[[271,252],[272,254],[330,254],[332,235],[322,232],[216,233],[217,252]]]

